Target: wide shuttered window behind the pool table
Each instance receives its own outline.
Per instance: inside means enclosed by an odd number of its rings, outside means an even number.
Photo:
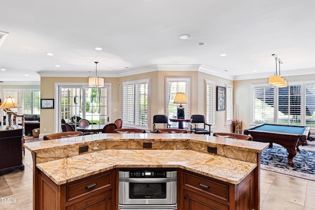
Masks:
[[[252,123],[315,125],[315,83],[252,86]]]

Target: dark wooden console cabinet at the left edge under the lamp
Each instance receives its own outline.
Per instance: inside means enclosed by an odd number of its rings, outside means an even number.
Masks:
[[[5,125],[0,126],[0,175],[12,169],[24,171],[22,137],[22,126],[15,125],[11,130],[6,130]]]

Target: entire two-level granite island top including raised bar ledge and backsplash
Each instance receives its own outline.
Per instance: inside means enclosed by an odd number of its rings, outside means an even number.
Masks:
[[[150,144],[150,149],[144,148]],[[268,143],[198,134],[93,134],[24,144],[56,184],[113,168],[182,168],[237,184],[257,166]],[[80,146],[89,151],[78,153]],[[216,152],[209,151],[209,148]]]

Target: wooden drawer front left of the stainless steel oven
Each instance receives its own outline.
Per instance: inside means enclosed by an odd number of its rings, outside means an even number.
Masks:
[[[104,174],[89,180],[80,181],[75,184],[70,184],[66,187],[67,199],[72,201],[86,194],[95,192],[96,190],[112,185],[112,173]]]

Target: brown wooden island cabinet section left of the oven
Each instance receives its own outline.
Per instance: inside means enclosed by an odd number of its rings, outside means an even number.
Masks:
[[[41,210],[111,210],[113,206],[112,171],[57,185],[40,173]]]

